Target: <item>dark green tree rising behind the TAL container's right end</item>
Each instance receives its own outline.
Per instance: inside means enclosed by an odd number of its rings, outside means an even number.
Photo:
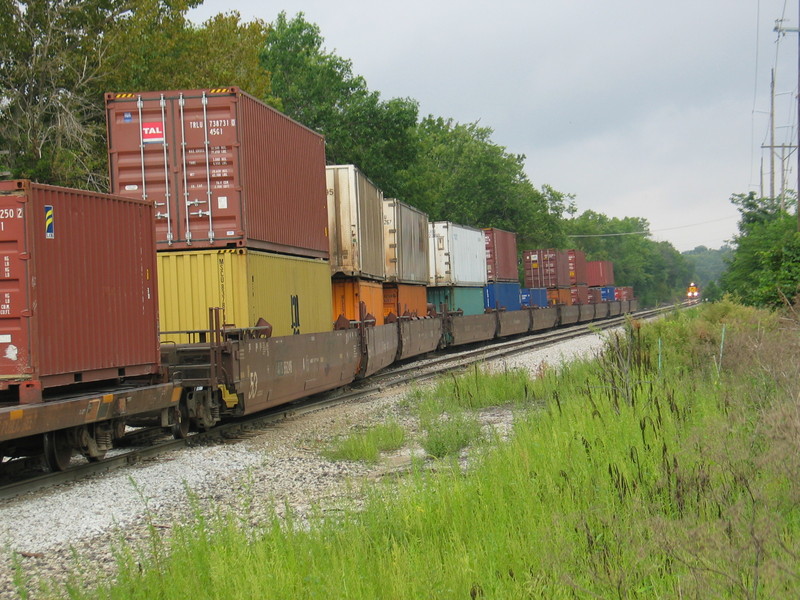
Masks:
[[[281,12],[261,52],[276,108],[325,136],[328,162],[355,164],[387,196],[400,193],[401,172],[417,157],[418,107],[409,98],[381,99],[350,60],[324,47],[303,13]]]

